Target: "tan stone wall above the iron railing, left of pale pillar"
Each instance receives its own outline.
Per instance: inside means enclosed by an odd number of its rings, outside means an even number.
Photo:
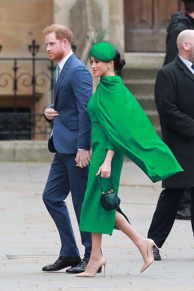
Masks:
[[[1,0],[1,57],[29,56],[28,45],[35,39],[46,55],[42,30],[54,20],[53,0]]]

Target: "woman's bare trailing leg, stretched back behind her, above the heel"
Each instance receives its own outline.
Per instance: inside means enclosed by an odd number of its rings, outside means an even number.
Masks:
[[[134,242],[143,257],[144,262],[146,262],[148,259],[146,240],[134,230],[131,224],[118,211],[116,211],[115,226],[126,234],[132,242]]]

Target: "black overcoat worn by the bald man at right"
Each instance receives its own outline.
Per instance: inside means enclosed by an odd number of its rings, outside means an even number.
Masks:
[[[154,91],[162,140],[184,170],[163,180],[162,187],[194,187],[194,74],[178,54],[158,71]]]

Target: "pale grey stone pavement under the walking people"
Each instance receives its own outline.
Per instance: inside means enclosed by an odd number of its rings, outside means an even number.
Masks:
[[[123,233],[103,235],[106,276],[76,278],[64,270],[45,273],[42,266],[59,255],[60,239],[43,202],[50,163],[0,163],[0,291],[191,291],[194,290],[194,240],[191,222],[175,220],[162,247],[162,260],[140,274],[143,259]],[[132,162],[123,165],[119,196],[132,226],[147,237],[161,191]],[[66,200],[83,257],[71,196]],[[106,223],[106,222],[105,222]]]

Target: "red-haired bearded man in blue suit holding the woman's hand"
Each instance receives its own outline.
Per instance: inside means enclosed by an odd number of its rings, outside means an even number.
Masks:
[[[72,31],[53,24],[43,30],[49,59],[58,61],[54,79],[54,103],[45,109],[48,122],[54,120],[54,160],[43,192],[43,201],[60,235],[60,256],[42,271],[58,271],[65,267],[68,273],[84,272],[91,252],[91,234],[80,232],[85,246],[83,260],[76,245],[65,198],[71,191],[72,202],[79,224],[88,180],[91,122],[87,104],[92,96],[92,76],[71,48]],[[76,167],[77,157],[79,166]]]

